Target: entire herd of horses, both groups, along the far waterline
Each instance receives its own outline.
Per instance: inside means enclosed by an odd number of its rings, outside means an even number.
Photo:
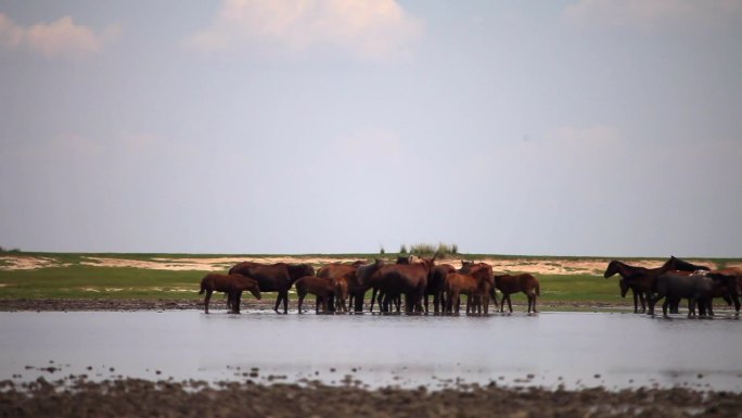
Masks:
[[[228,274],[208,274],[201,281],[200,294],[206,293],[204,308],[208,314],[212,294],[227,294],[227,307],[240,313],[242,292],[248,291],[256,299],[261,292],[277,292],[273,309],[283,314],[289,312],[289,290],[296,288],[298,313],[303,313],[304,300],[308,294],[316,296],[317,313],[360,313],[364,309],[366,293],[371,290],[370,312],[378,304],[379,312],[401,312],[402,301],[406,313],[428,313],[432,296],[434,314],[458,314],[461,296],[466,296],[466,314],[488,314],[490,303],[497,308],[498,292],[501,293],[499,312],[504,304],[512,313],[510,295],[523,292],[528,300],[527,312],[537,312],[536,300],[540,295],[540,283],[529,274],[495,275],[487,263],[462,262],[457,269],[450,264],[436,264],[437,254],[432,258],[398,257],[395,264],[383,259],[372,263],[327,264],[315,271],[309,264],[261,264],[242,262],[229,269]],[[740,312],[740,287],[742,268],[732,267],[712,271],[706,266],[694,265],[670,256],[657,268],[630,266],[621,261],[612,261],[603,276],[618,275],[621,295],[628,291],[634,294],[635,313],[654,315],[656,303],[664,299],[663,315],[678,312],[681,300],[688,300],[688,315],[711,316],[713,300],[722,297],[727,304],[734,304]],[[639,308],[641,304],[641,311]],[[649,309],[648,309],[649,305]]]

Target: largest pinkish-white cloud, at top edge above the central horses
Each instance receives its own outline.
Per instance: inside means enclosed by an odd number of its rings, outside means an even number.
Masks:
[[[380,61],[404,55],[422,33],[421,21],[395,0],[225,0],[188,43],[203,52],[247,47],[280,54],[332,47]]]

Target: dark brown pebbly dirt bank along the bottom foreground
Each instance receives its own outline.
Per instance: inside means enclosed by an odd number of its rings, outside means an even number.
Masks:
[[[687,389],[549,391],[468,385],[366,390],[307,384],[0,382],[0,417],[739,417],[742,394]]]

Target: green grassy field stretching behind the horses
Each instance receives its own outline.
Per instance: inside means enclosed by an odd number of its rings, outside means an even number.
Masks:
[[[12,264],[9,257],[36,257],[50,262],[50,265],[33,269],[9,269]],[[379,254],[306,254],[291,255],[293,258],[331,257],[340,259],[371,259]],[[92,258],[162,262],[163,259],[214,259],[241,258],[250,255],[227,254],[67,254],[67,253],[21,253],[0,254],[0,299],[142,299],[142,300],[197,300],[199,282],[207,269],[171,270],[137,267],[111,267],[89,265]],[[265,257],[265,255],[261,255]],[[281,255],[271,255],[281,257]],[[487,254],[465,254],[463,259],[484,259],[497,257],[523,261],[523,270],[528,271],[532,263],[547,261],[546,264],[558,264],[565,259],[590,259],[591,257],[538,257],[538,256],[502,256]],[[386,254],[388,261],[396,259],[396,254]],[[596,257],[604,259],[604,257]],[[627,259],[627,258],[625,258]],[[647,258],[643,258],[647,259]],[[627,259],[630,262],[630,259]],[[658,259],[661,264],[663,261]],[[714,259],[717,265],[739,263],[740,259]],[[226,270],[231,262],[223,263]],[[319,267],[319,266],[316,266]],[[497,269],[496,269],[497,271]],[[628,306],[631,301],[618,294],[617,279],[604,279],[600,275],[586,274],[537,274],[541,282],[539,304],[580,305],[615,304]],[[513,296],[514,303],[522,303],[525,296]]]

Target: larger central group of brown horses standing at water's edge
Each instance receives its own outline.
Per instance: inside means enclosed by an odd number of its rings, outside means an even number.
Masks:
[[[379,312],[401,312],[402,301],[406,313],[428,313],[430,299],[433,296],[434,314],[458,314],[461,308],[461,296],[466,296],[466,314],[488,314],[490,303],[498,304],[499,290],[502,294],[500,312],[504,303],[513,312],[510,295],[523,292],[528,297],[528,313],[537,312],[536,299],[540,295],[537,278],[528,274],[500,275],[492,273],[487,263],[462,262],[456,269],[450,264],[436,264],[437,254],[426,257],[398,257],[397,263],[387,264],[383,259],[372,263],[362,261],[354,263],[332,263],[319,270],[309,264],[261,264],[242,262],[229,269],[229,273],[208,274],[201,281],[200,294],[206,293],[204,309],[208,314],[208,305],[214,292],[227,294],[227,307],[232,313],[240,313],[242,292],[248,291],[256,299],[261,292],[277,292],[273,309],[289,312],[289,290],[296,288],[298,312],[303,313],[303,304],[307,294],[316,296],[317,313],[360,313],[364,309],[366,293],[371,290],[370,311],[374,304]]]

